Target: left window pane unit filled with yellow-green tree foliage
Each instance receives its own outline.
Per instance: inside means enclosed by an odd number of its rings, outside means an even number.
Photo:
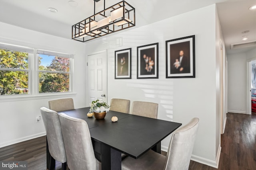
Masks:
[[[30,58],[33,49],[0,43],[0,95],[30,92]]]

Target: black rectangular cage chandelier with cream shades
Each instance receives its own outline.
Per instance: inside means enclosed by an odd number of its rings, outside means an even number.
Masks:
[[[86,42],[135,26],[135,8],[124,0],[72,26],[72,39]]]

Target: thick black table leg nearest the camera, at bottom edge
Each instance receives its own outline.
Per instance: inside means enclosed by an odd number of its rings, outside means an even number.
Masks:
[[[121,170],[121,152],[101,144],[102,170]]]

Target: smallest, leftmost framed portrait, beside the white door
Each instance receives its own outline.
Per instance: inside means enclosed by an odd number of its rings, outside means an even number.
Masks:
[[[115,79],[131,79],[132,49],[115,51]]]

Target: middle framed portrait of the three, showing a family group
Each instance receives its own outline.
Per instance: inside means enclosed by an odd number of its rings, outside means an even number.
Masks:
[[[158,43],[137,47],[137,78],[158,78]]]

